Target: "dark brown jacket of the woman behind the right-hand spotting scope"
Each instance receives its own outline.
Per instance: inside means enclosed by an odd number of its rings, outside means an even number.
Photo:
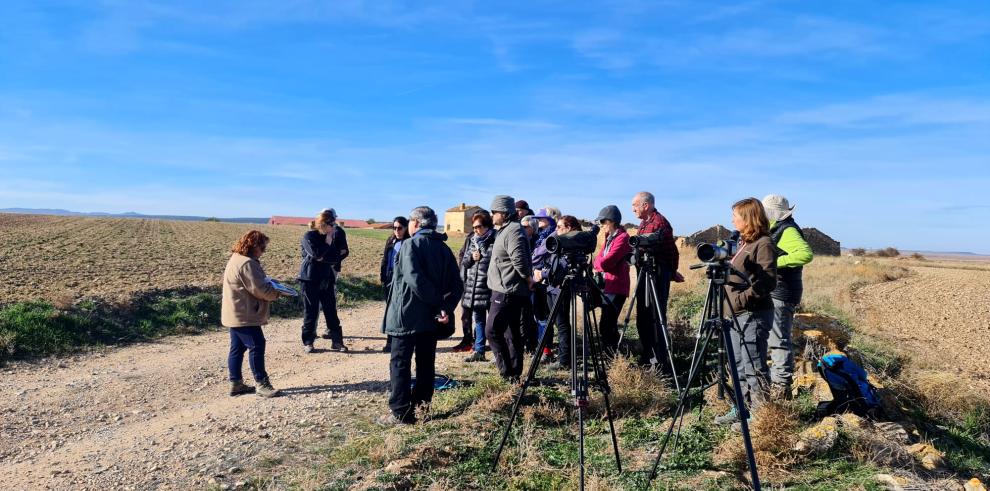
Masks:
[[[732,309],[737,314],[772,310],[770,292],[777,287],[777,249],[770,237],[740,243],[739,251],[732,258],[732,267],[735,269],[729,275],[727,294]]]

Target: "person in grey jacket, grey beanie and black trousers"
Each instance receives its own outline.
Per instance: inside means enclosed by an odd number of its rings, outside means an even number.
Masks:
[[[496,196],[492,200],[491,214],[498,231],[488,264],[488,288],[492,298],[485,335],[499,375],[517,383],[523,369],[520,321],[533,284],[532,257],[519,224],[515,200],[511,196]]]

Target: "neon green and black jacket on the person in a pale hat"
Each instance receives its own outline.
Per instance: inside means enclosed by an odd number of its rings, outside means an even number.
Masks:
[[[804,265],[814,259],[814,253],[792,217],[771,223],[770,238],[786,253],[777,258],[777,288],[771,296],[797,305],[804,293]]]

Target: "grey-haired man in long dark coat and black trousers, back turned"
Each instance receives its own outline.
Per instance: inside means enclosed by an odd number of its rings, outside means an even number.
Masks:
[[[382,330],[392,336],[389,365],[391,414],[382,423],[416,422],[416,407],[433,399],[437,329],[453,322],[463,294],[457,261],[437,233],[437,215],[426,206],[409,214],[412,237],[403,242],[392,273]],[[416,355],[416,386],[410,390],[411,365]]]

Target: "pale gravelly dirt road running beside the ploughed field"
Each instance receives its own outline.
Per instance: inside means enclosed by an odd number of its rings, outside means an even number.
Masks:
[[[342,438],[360,426],[355,422],[367,427],[386,410],[388,359],[377,329],[382,308],[341,311],[349,354],[306,355],[300,321],[269,325],[268,371],[285,392],[274,399],[227,395],[226,332],[7,367],[0,483],[4,489],[201,488],[211,479],[234,484],[259,466],[312,456],[307,452],[321,439]],[[321,340],[317,348],[321,343],[328,345]],[[441,349],[438,365],[459,359]],[[244,370],[250,380],[247,360]]]

